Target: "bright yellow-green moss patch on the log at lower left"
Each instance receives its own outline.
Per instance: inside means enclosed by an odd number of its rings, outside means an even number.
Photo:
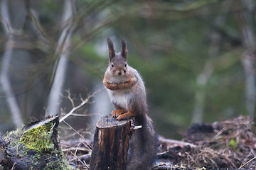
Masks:
[[[53,127],[53,123],[48,123],[26,130],[19,143],[37,152],[49,152],[54,149],[53,142],[50,140],[53,135]]]

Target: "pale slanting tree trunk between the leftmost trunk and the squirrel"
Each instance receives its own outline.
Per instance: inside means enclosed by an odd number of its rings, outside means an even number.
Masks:
[[[53,85],[50,89],[48,98],[47,115],[58,114],[58,106],[60,104],[61,93],[65,83],[65,70],[68,67],[68,46],[70,45],[70,38],[75,28],[73,23],[73,1],[65,0],[63,7],[63,23],[65,24],[63,32],[58,40],[58,45],[55,55],[60,55],[60,59],[55,63],[55,70],[53,71]]]

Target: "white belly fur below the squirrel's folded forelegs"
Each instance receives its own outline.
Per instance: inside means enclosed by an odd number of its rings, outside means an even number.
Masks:
[[[108,93],[110,95],[110,100],[112,103],[126,110],[128,109],[129,90],[108,90]]]

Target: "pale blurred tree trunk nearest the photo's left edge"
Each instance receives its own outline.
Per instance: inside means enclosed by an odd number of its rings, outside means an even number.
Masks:
[[[11,62],[11,56],[13,55],[12,46],[14,44],[14,36],[12,35],[12,33],[14,33],[14,30],[12,30],[12,27],[11,27],[11,20],[9,18],[8,4],[6,0],[1,1],[1,17],[2,17],[2,26],[4,28],[4,33],[8,38],[5,45],[3,61],[1,62],[1,75],[0,75],[1,84],[4,90],[4,94],[6,96],[7,105],[9,106],[9,109],[11,111],[11,116],[12,116],[14,125],[16,126],[16,128],[19,128],[22,125],[23,120],[21,118],[21,111],[20,111],[20,108],[18,107],[18,103],[16,101],[14,92],[12,91],[11,82],[8,77],[8,70]]]

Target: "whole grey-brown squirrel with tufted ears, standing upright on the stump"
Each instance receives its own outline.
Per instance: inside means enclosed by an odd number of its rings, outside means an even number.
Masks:
[[[146,105],[146,90],[142,77],[127,64],[127,42],[123,38],[122,52],[116,53],[110,38],[107,38],[109,65],[103,79],[117,120],[134,117],[135,125],[142,125],[130,140],[127,170],[150,169],[156,159],[158,137],[149,118]]]

